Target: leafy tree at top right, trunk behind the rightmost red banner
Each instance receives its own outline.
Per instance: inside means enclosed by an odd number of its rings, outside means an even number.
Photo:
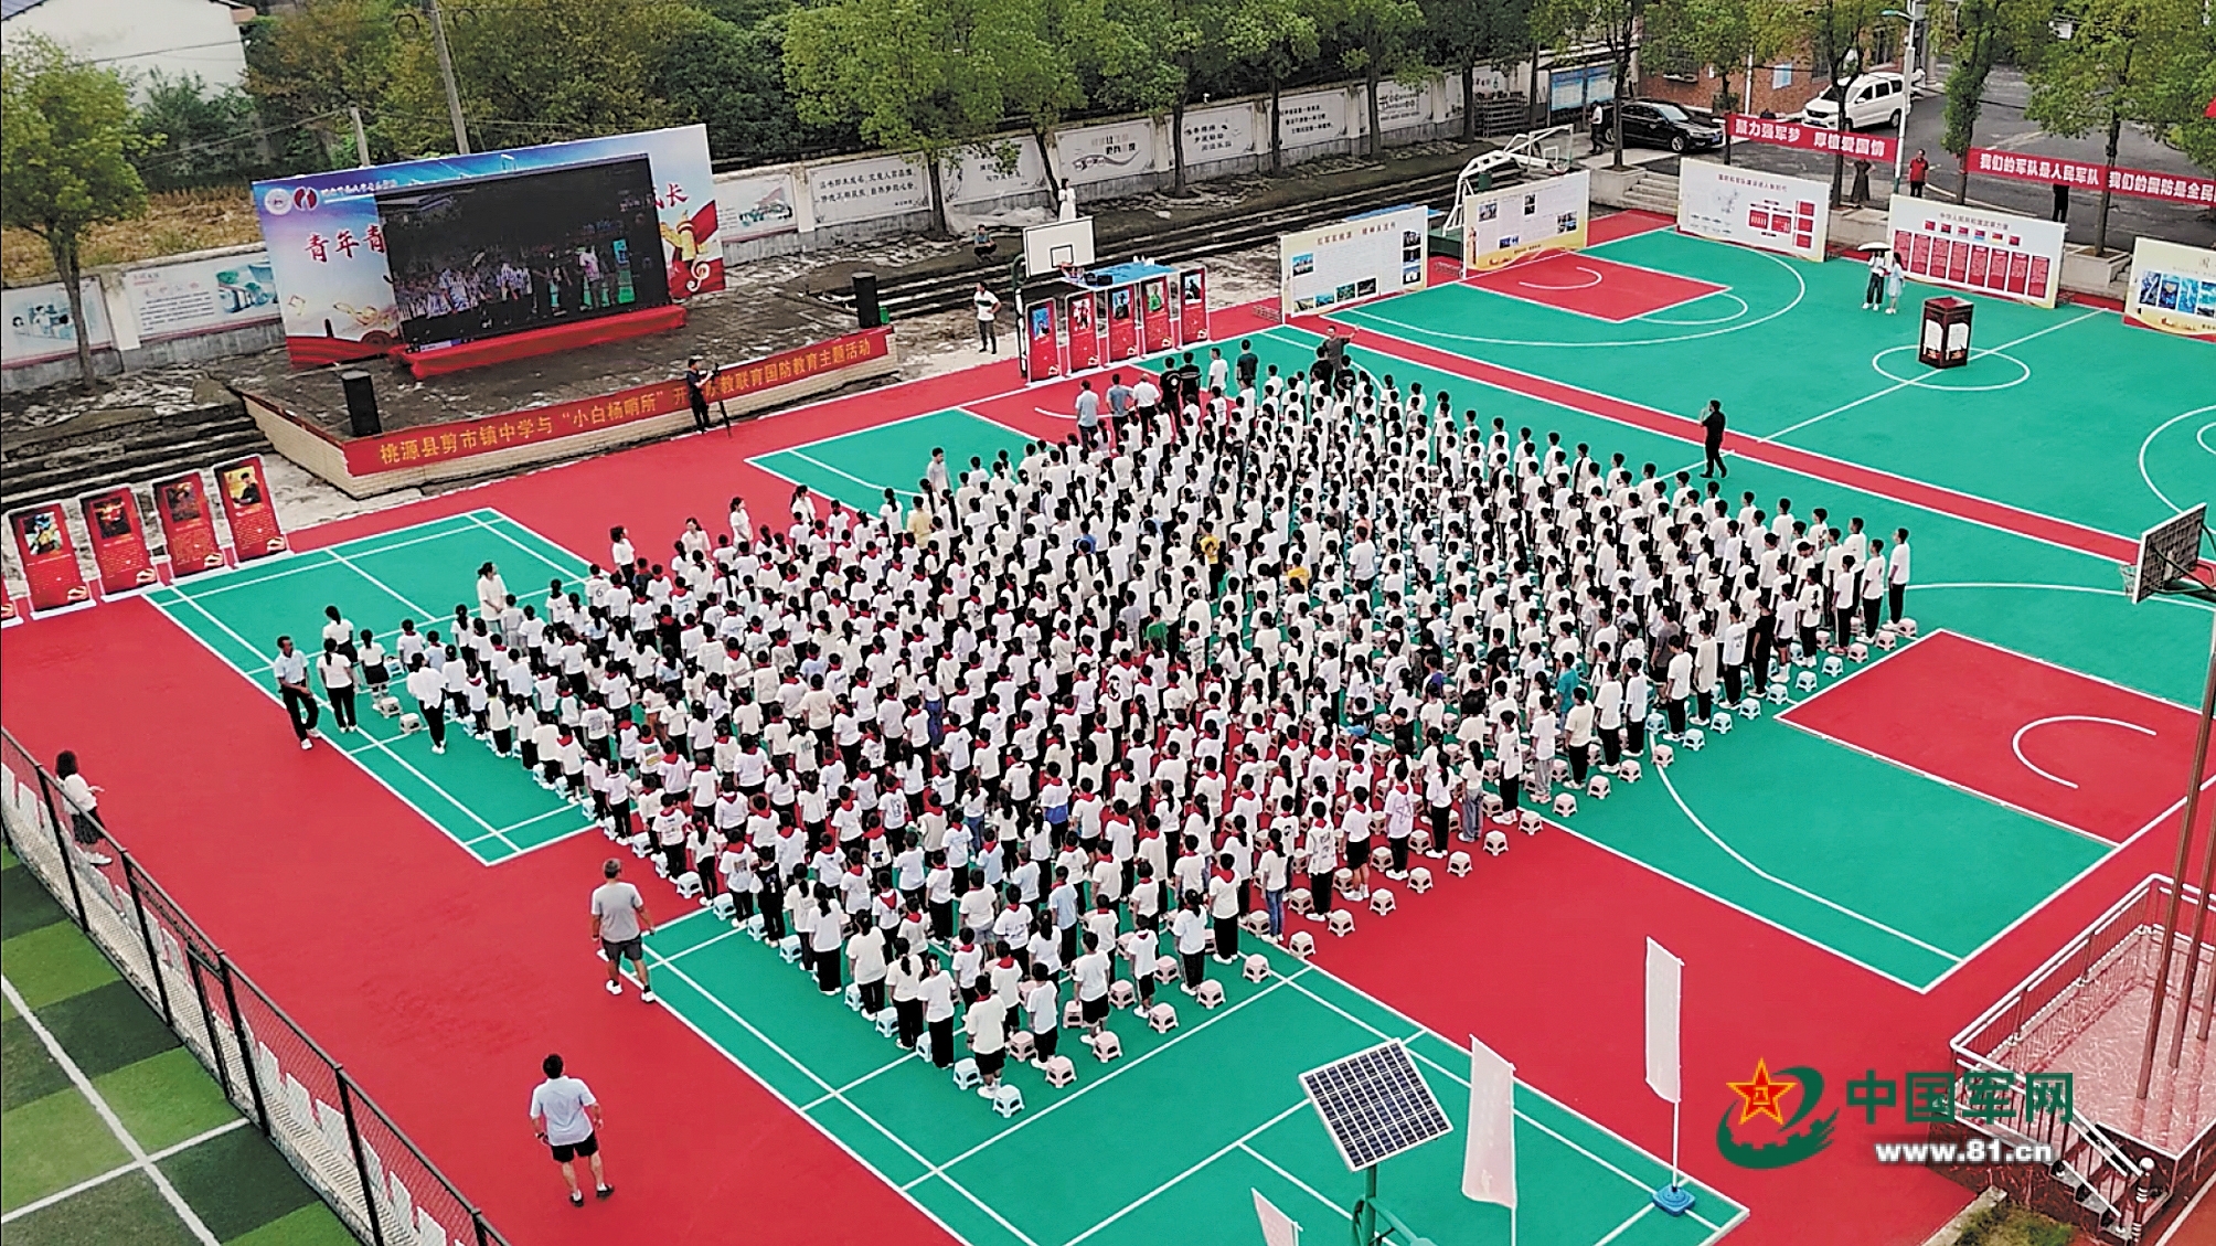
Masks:
[[[2125,124],[2163,137],[2178,120],[2169,80],[2198,27],[2200,7],[2194,0],[2085,0],[2070,38],[2054,40],[2028,75],[2032,100],[2023,109],[2025,120],[2070,137],[2105,131],[2103,164],[2114,168]],[[2107,206],[2103,173],[2094,255],[2107,251]]]

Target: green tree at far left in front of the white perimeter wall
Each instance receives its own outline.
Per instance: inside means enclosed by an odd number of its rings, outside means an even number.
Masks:
[[[31,231],[53,255],[86,390],[95,384],[93,344],[78,246],[86,228],[146,211],[146,184],[131,168],[137,144],[131,84],[113,69],[42,35],[18,40],[0,58],[0,224]]]

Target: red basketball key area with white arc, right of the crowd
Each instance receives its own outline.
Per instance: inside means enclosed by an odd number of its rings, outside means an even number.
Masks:
[[[1955,632],[1777,721],[2110,842],[2178,807],[2196,725],[2183,705]]]

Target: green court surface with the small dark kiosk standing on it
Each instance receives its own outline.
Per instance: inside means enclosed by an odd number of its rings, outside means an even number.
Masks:
[[[1935,372],[1915,359],[1917,310],[1952,290],[1910,284],[1901,315],[1859,313],[1853,259],[1671,231],[1591,253],[1728,290],[1611,324],[1449,284],[1332,319],[1686,417],[1722,399],[1737,432],[2125,537],[2216,499],[2205,341],[1974,297],[1972,361]]]

